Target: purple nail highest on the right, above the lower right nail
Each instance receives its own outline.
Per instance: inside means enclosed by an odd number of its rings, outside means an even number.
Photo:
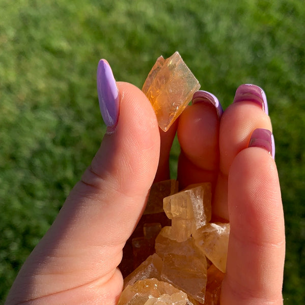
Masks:
[[[267,98],[264,90],[259,86],[252,84],[240,85],[234,97],[234,103],[236,102],[254,102],[260,105],[263,111],[268,114]]]

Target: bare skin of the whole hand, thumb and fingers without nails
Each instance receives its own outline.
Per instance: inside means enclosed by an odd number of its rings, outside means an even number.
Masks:
[[[152,182],[169,178],[176,129],[180,186],[212,181],[213,215],[230,219],[221,305],[282,304],[285,235],[278,173],[268,151],[247,148],[256,128],[271,131],[267,114],[243,101],[219,119],[212,105],[198,103],[163,133],[141,90],[117,85],[121,101],[114,132],[104,136],[91,166],[24,263],[6,304],[117,303],[122,249]]]

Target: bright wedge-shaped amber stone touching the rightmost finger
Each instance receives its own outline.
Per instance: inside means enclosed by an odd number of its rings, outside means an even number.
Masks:
[[[203,254],[222,272],[226,272],[230,224],[209,223],[192,236]]]

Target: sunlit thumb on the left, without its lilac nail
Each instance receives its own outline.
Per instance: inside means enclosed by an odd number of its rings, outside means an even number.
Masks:
[[[21,268],[8,303],[43,298],[112,304],[121,292],[116,267],[156,174],[160,135],[141,90],[122,82],[117,87],[116,127],[108,128],[90,167]]]

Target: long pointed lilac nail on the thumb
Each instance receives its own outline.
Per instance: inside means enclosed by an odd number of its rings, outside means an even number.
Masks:
[[[96,84],[103,120],[106,126],[114,127],[119,117],[119,90],[113,72],[105,59],[101,59],[98,63]]]

